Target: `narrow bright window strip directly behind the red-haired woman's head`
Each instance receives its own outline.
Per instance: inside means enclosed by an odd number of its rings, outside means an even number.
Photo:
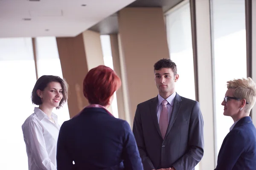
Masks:
[[[101,40],[101,45],[102,45],[104,64],[114,70],[112,52],[111,52],[110,36],[109,35],[101,35],[100,40]],[[116,92],[114,93],[114,99],[113,99],[111,107],[112,107],[112,111],[113,111],[113,116],[118,118]]]

